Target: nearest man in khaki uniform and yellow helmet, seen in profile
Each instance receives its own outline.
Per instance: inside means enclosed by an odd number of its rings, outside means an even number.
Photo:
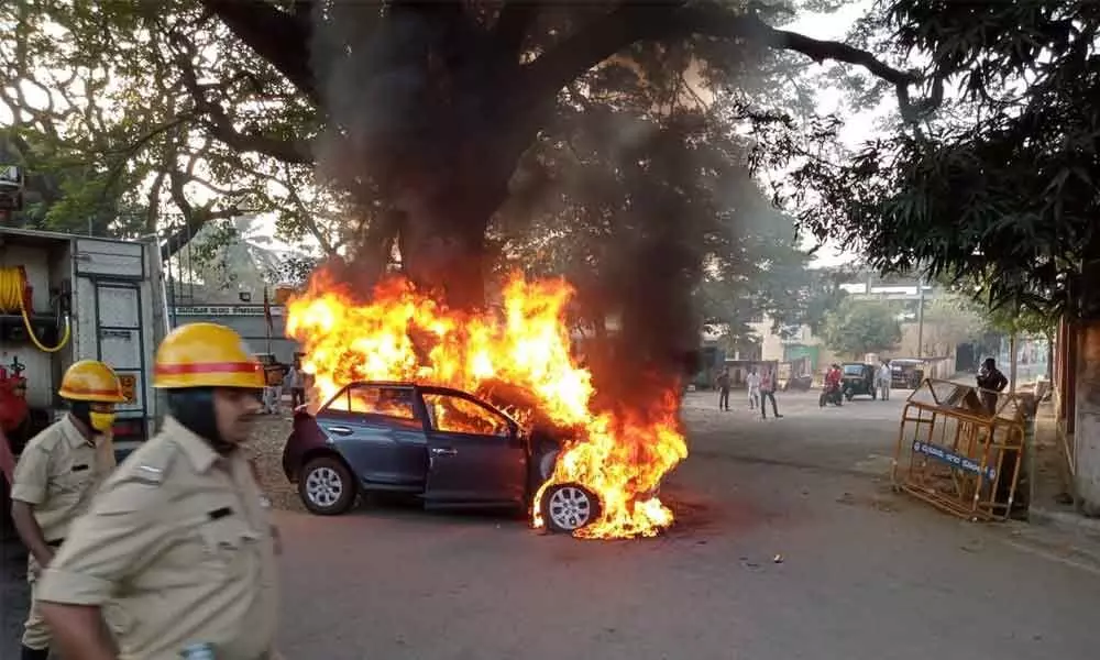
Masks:
[[[223,326],[191,323],[157,349],[170,417],[103,484],[45,571],[38,600],[66,660],[274,654],[274,528],[240,444],[263,367]],[[112,648],[101,607],[121,610]]]

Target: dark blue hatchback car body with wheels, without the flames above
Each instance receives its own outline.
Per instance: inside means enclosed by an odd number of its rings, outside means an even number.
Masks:
[[[539,506],[550,529],[574,532],[598,519],[601,502],[579,483],[543,490],[563,440],[466,392],[361,381],[316,415],[296,411],[283,470],[318,515],[343,514],[362,494],[403,493],[429,508]]]

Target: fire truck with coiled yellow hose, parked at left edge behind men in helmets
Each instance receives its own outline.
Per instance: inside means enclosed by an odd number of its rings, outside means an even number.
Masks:
[[[156,241],[0,228],[0,527],[26,442],[65,414],[62,374],[101,360],[122,381],[114,449],[121,461],[154,430],[150,366],[167,331]]]

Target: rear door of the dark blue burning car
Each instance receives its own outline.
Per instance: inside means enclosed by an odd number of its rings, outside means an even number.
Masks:
[[[360,481],[422,488],[427,438],[411,387],[349,385],[318,415],[317,422]]]

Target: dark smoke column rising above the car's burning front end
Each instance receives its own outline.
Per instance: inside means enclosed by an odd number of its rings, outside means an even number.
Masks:
[[[645,407],[695,371],[698,319],[693,292],[702,276],[710,223],[710,191],[701,186],[692,118],[642,119],[628,112],[586,117],[579,142],[614,176],[598,198],[607,217],[598,249],[597,284],[581,296],[615,321],[606,341],[585,348],[601,398],[607,405]],[[586,154],[588,155],[588,154]],[[583,179],[588,174],[579,173]],[[568,184],[578,202],[593,211]],[[582,239],[583,240],[583,239]]]

